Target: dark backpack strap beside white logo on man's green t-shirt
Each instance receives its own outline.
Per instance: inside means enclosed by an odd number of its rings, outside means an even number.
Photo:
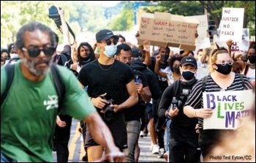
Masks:
[[[54,86],[56,87],[56,91],[59,96],[59,107],[58,107],[58,113],[59,113],[61,110],[62,102],[63,102],[62,99],[64,98],[64,94],[65,94],[65,86],[56,64],[52,64],[52,66],[50,67],[50,70],[53,76]]]

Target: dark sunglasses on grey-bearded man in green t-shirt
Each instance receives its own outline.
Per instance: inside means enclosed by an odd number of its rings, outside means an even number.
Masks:
[[[53,53],[56,51],[56,48],[55,47],[45,47],[42,49],[39,49],[39,48],[27,49],[27,48],[23,47],[22,50],[28,52],[30,57],[37,57],[37,56],[39,56],[41,51],[43,51],[45,53],[45,56],[53,56]]]

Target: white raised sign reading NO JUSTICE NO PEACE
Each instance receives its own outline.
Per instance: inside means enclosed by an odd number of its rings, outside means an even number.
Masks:
[[[220,41],[226,42],[232,39],[241,42],[244,23],[244,8],[222,8],[222,20],[220,28]]]

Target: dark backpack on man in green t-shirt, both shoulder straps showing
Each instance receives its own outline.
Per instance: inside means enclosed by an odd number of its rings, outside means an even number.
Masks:
[[[15,68],[15,64],[6,64],[4,67],[7,71],[7,86],[4,90],[4,93],[1,94],[1,105],[4,102],[4,99],[7,97],[8,91],[12,85],[12,80],[14,77],[14,68]],[[56,91],[57,94],[59,96],[59,108],[58,108],[58,113],[61,110],[61,104],[62,104],[62,99],[64,97],[65,94],[65,86],[64,86],[64,82],[61,78],[61,74],[59,72],[59,69],[56,67],[55,64],[52,64],[52,66],[50,67],[50,72],[51,75],[53,77],[53,83],[54,86],[56,87]]]

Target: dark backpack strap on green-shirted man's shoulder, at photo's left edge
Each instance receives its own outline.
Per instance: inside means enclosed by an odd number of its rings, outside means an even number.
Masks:
[[[14,67],[15,67],[15,64],[6,64],[5,65],[5,69],[6,69],[6,72],[7,72],[7,86],[4,90],[4,93],[1,94],[1,105],[4,102],[4,99],[7,97],[8,91],[9,91],[11,85],[12,85],[12,80],[13,80],[13,77],[14,77]]]

